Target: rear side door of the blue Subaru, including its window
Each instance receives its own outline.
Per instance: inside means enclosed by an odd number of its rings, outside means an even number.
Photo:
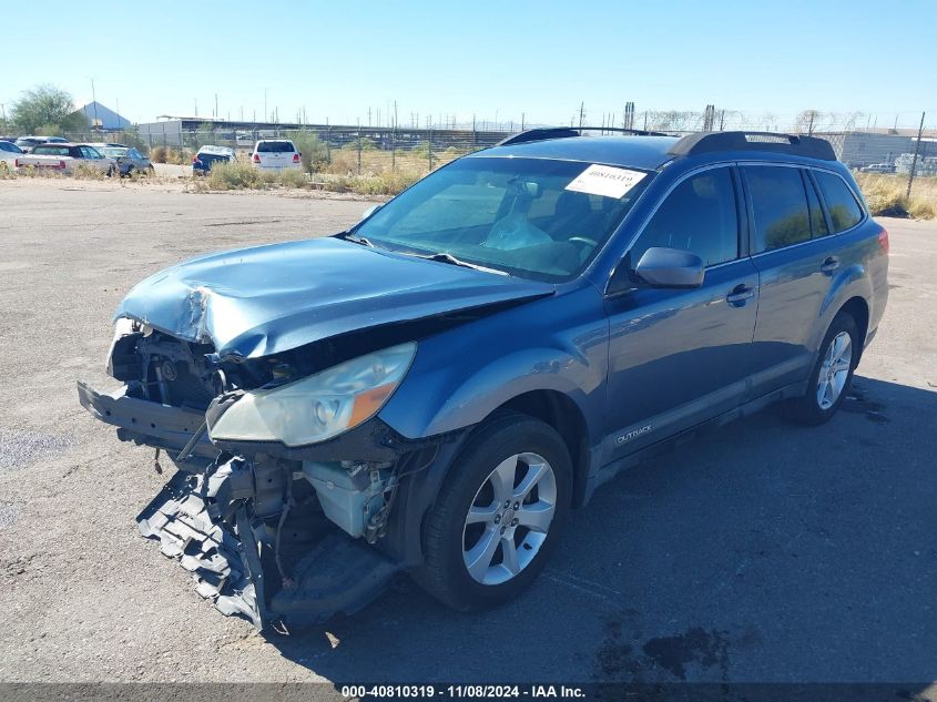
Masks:
[[[809,174],[801,167],[743,169],[752,261],[761,302],[752,349],[752,398],[807,378],[821,305],[841,265]]]

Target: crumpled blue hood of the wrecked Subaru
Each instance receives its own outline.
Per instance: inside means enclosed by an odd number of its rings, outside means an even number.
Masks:
[[[223,357],[281,353],[347,332],[548,295],[522,281],[336,238],[212,254],[134,286],[114,313]]]

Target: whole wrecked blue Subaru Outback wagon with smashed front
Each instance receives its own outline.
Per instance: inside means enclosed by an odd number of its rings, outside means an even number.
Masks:
[[[140,529],[222,612],[319,622],[398,571],[480,608],[673,439],[829,419],[887,253],[825,141],[524,132],[346,232],[143,281],[123,387],[79,395],[177,467]]]

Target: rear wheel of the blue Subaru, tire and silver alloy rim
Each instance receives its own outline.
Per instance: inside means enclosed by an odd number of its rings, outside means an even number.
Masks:
[[[838,313],[819,345],[806,394],[785,405],[785,416],[805,426],[828,421],[849,391],[860,349],[856,321],[847,312]]]

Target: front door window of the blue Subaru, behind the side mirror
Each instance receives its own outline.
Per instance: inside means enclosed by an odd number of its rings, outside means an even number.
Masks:
[[[692,175],[671,191],[631,247],[631,266],[654,246],[692,252],[705,266],[739,257],[739,212],[729,167]]]

